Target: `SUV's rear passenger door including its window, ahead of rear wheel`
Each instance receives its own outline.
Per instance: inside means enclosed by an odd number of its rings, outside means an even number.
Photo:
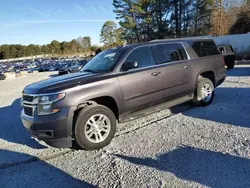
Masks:
[[[192,94],[192,66],[182,43],[153,46],[157,64],[162,65],[164,98],[178,98]]]

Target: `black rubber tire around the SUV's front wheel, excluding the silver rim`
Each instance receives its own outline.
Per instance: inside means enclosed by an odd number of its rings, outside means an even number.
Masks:
[[[100,143],[92,143],[90,142],[85,135],[85,127],[86,123],[95,114],[103,114],[107,116],[107,118],[110,121],[111,128],[109,135],[107,138]],[[76,143],[83,149],[86,150],[94,150],[102,148],[110,143],[112,138],[114,137],[114,134],[116,132],[116,118],[114,113],[105,106],[100,105],[94,105],[90,107],[84,108],[77,117],[75,128],[74,128],[74,137],[76,140]]]

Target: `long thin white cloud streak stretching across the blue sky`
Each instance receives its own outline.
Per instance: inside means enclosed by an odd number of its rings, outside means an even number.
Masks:
[[[33,24],[46,24],[46,23],[91,23],[101,22],[104,23],[107,20],[23,20],[19,22],[7,23],[0,25],[0,28],[18,27],[22,25],[33,25]],[[117,22],[117,20],[111,20]]]

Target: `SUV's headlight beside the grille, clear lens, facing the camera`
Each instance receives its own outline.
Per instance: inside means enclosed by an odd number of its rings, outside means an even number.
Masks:
[[[64,97],[65,93],[39,96],[39,102],[37,106],[38,115],[49,115],[60,111],[60,108],[54,107],[54,103],[56,101],[62,100]]]

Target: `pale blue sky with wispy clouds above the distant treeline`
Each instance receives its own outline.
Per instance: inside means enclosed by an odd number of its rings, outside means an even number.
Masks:
[[[0,45],[48,44],[90,36],[115,20],[112,0],[0,0]]]

